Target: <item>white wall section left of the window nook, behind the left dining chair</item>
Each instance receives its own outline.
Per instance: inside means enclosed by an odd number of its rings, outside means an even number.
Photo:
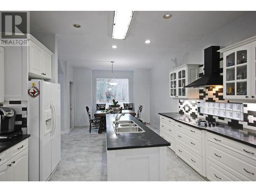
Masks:
[[[92,70],[74,68],[75,125],[89,125],[86,106],[92,109]]]

